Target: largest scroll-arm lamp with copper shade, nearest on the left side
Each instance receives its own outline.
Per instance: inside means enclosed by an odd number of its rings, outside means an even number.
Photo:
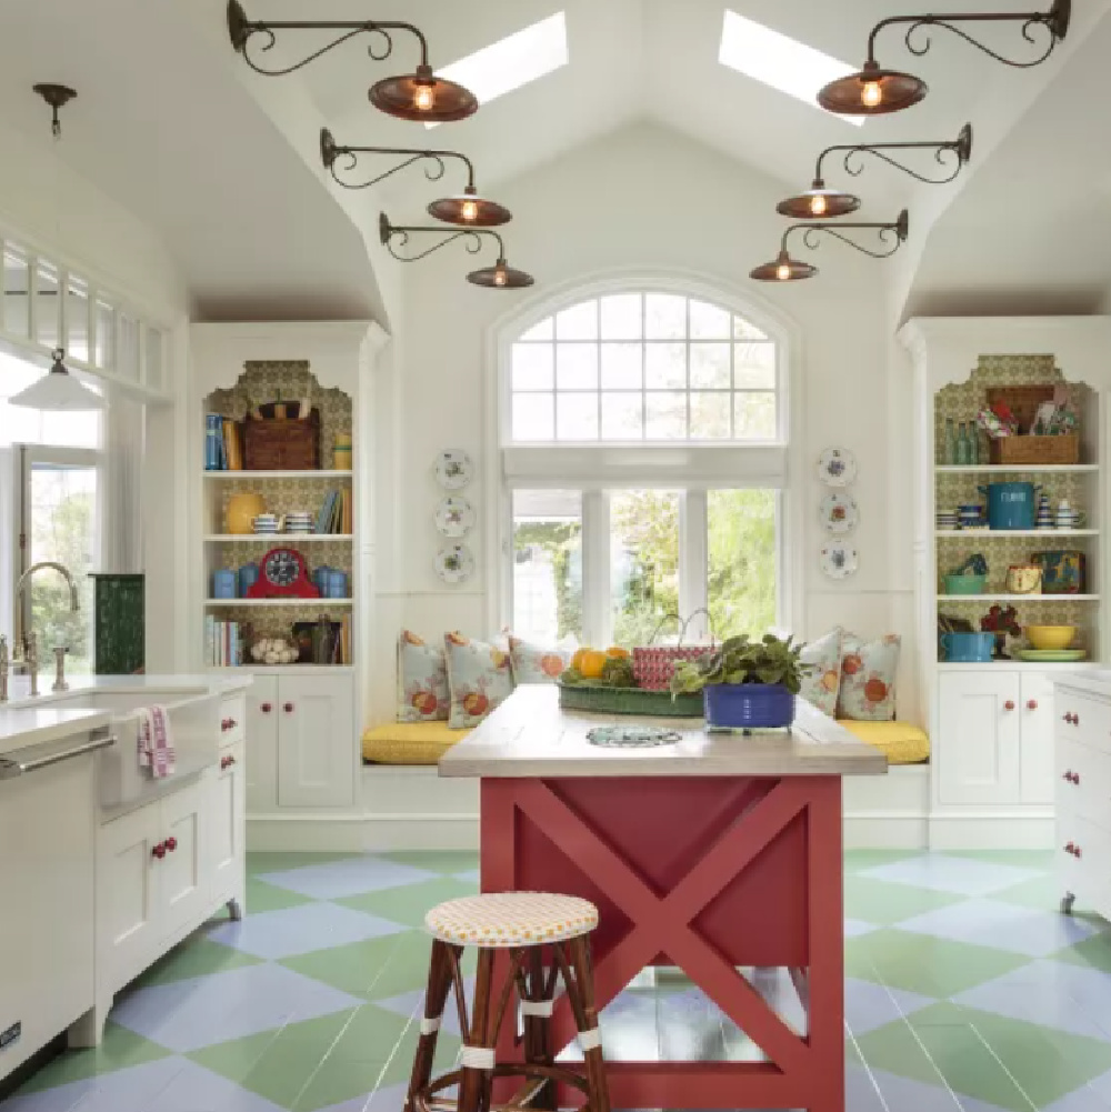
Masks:
[[[388,116],[403,120],[417,120],[423,123],[448,123],[452,120],[465,120],[478,111],[478,98],[455,81],[436,77],[428,64],[428,41],[419,28],[413,23],[378,20],[250,20],[239,0],[228,0],[228,37],[231,46],[244,61],[265,77],[285,77],[308,66],[321,54],[354,39],[357,34],[368,34],[374,42],[368,53],[375,61],[385,61],[394,52],[391,31],[406,31],[414,36],[420,46],[420,61],[413,73],[387,77],[376,81],[369,89],[370,103]],[[250,56],[250,43],[260,37],[259,52],[274,48],[278,41],[276,31],[343,31],[333,42],[314,50],[292,66],[278,69],[267,69]]]

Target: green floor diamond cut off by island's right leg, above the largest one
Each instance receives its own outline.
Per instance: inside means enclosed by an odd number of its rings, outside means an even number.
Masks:
[[[886,930],[845,942],[845,976],[945,999],[1031,961],[988,946]]]

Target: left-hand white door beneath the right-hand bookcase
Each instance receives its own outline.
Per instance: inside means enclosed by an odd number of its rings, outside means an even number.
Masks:
[[[938,762],[942,803],[1018,803],[1022,790],[1019,673],[943,672]]]

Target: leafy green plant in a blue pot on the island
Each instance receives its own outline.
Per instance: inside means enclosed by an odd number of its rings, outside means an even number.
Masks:
[[[730,637],[697,659],[682,661],[672,675],[672,693],[702,692],[706,725],[720,729],[790,726],[795,696],[812,668],[801,659],[803,645],[765,634]]]

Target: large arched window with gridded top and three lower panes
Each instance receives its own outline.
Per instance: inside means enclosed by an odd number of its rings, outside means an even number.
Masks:
[[[497,618],[647,644],[783,622],[786,345],[745,312],[621,289],[509,329]],[[708,626],[708,628],[707,628]]]

